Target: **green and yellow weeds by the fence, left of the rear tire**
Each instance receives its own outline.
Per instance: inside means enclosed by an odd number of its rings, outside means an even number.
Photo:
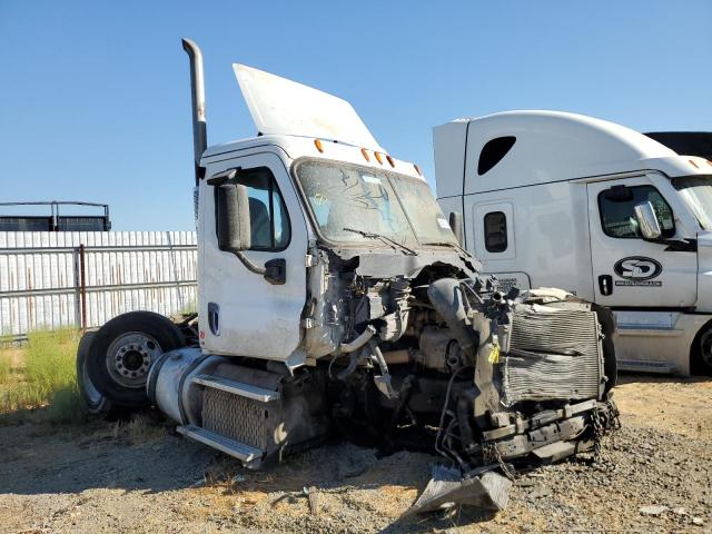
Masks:
[[[28,335],[22,349],[0,350],[3,419],[22,419],[38,408],[52,422],[85,419],[76,379],[79,336],[73,329],[34,332]]]

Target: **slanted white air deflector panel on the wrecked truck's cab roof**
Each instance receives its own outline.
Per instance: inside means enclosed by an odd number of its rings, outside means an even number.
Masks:
[[[261,134],[315,137],[385,151],[346,100],[245,65],[234,63],[233,69]]]

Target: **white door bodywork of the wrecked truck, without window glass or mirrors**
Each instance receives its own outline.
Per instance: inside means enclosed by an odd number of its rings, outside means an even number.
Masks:
[[[209,306],[219,307],[219,335],[200,322],[201,347],[212,354],[288,359],[301,338],[300,317],[306,301],[307,226],[285,162],[274,152],[253,154],[210,164],[207,177],[234,167],[268,167],[279,186],[289,215],[291,238],[285,250],[245,251],[264,266],[275,258],[286,260],[286,284],[269,284],[250,273],[240,259],[218,248],[214,187],[200,182],[201,234],[199,250],[199,314],[209,317]]]

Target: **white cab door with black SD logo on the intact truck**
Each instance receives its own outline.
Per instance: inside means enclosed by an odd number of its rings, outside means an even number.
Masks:
[[[696,253],[645,241],[637,227],[634,207],[650,201],[662,237],[683,237],[664,186],[669,184],[654,184],[645,176],[586,186],[596,303],[612,307],[694,306]]]

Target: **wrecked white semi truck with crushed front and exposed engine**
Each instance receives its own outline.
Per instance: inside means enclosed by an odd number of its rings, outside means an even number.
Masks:
[[[129,313],[86,336],[93,412],[152,404],[250,467],[337,433],[436,451],[495,507],[502,485],[475,474],[595,446],[615,419],[607,310],[498,293],[418,167],[336,97],[235,65],[258,135],[206,148],[202,59],[184,48],[199,319]]]

